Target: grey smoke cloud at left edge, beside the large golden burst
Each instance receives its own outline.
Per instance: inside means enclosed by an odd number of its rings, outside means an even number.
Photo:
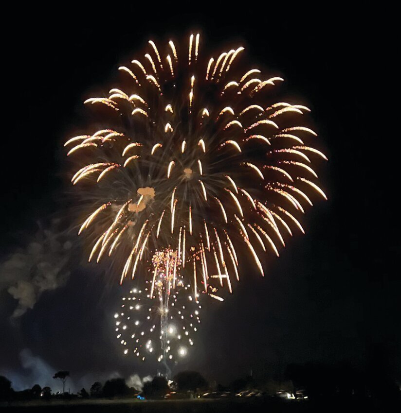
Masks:
[[[26,247],[0,264],[0,291],[7,290],[18,300],[12,317],[20,317],[32,309],[44,291],[66,283],[73,243],[67,231],[60,231],[59,227],[59,220],[53,220],[49,229],[39,227]]]

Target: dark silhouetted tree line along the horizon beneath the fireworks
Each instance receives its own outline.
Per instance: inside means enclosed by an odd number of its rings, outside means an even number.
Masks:
[[[380,366],[381,364],[379,364]],[[146,381],[142,389],[128,387],[123,378],[107,380],[104,384],[95,381],[87,390],[82,388],[77,394],[65,392],[69,371],[59,371],[53,376],[62,382],[62,392],[52,392],[50,387],[41,388],[35,384],[31,389],[20,392],[12,389],[12,383],[0,376],[0,401],[50,399],[52,397],[81,398],[134,398],[162,399],[175,392],[183,397],[201,396],[205,392],[230,394],[235,396],[241,391],[253,391],[274,396],[280,392],[296,395],[303,392],[309,399],[327,399],[333,397],[361,397],[380,399],[400,399],[401,384],[387,370],[374,368],[369,371],[358,370],[346,363],[327,365],[321,363],[291,364],[287,366],[284,377],[278,379],[255,378],[243,376],[230,382],[227,386],[207,380],[196,371],[182,371],[172,381],[156,376]]]

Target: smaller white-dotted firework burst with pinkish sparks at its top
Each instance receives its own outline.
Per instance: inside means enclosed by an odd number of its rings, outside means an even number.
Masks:
[[[135,354],[142,361],[154,356],[164,364],[166,376],[170,364],[185,357],[194,344],[191,336],[201,323],[201,305],[184,285],[179,264],[176,251],[156,251],[152,280],[144,290],[134,288],[123,297],[121,312],[114,314],[124,354]]]

